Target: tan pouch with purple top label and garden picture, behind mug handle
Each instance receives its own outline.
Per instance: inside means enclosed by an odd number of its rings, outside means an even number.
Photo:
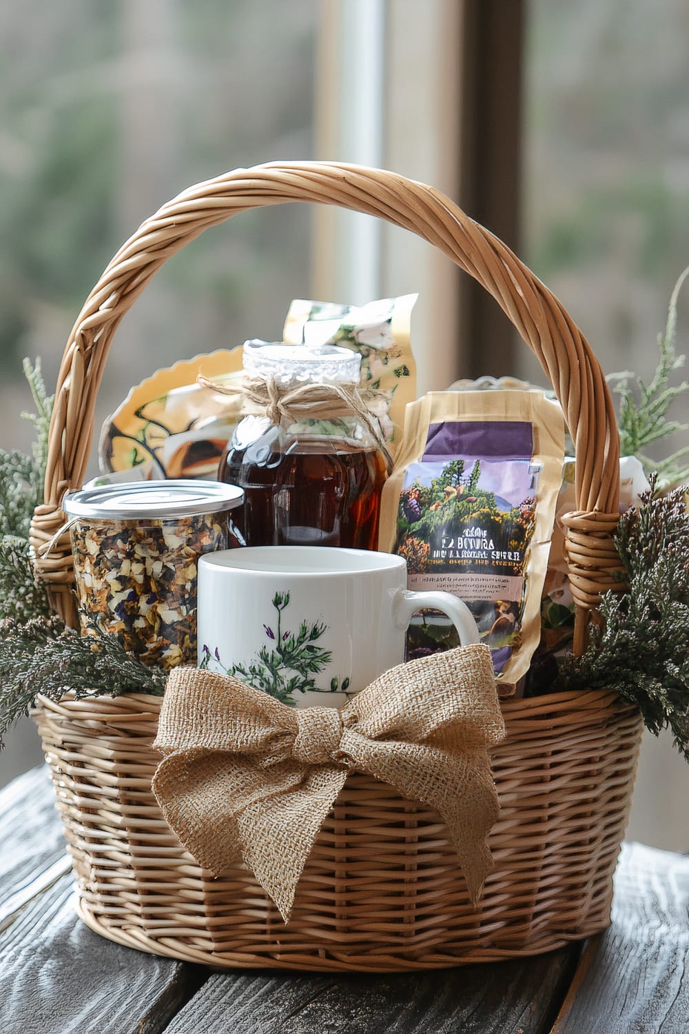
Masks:
[[[378,548],[407,560],[409,588],[468,605],[504,690],[527,673],[562,483],[564,422],[540,391],[430,392],[407,405],[383,487]],[[435,611],[407,657],[458,645]]]

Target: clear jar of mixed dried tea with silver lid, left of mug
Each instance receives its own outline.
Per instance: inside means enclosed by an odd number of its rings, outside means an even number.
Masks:
[[[244,545],[230,516],[243,497],[236,485],[186,480],[66,496],[83,632],[117,635],[146,664],[194,662],[198,557]]]

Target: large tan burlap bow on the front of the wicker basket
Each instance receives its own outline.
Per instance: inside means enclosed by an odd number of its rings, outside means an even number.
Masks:
[[[436,809],[472,902],[491,871],[498,817],[488,747],[504,725],[487,646],[385,672],[341,710],[296,709],[226,675],[177,668],[154,748],[154,793],[198,863],[243,858],[285,922],[318,831],[357,770]]]

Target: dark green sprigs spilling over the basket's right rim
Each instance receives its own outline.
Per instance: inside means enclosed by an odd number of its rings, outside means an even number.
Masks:
[[[656,735],[669,727],[689,760],[689,511],[687,489],[658,494],[620,520],[615,542],[628,592],[604,592],[601,627],[553,689],[609,688],[637,704]]]

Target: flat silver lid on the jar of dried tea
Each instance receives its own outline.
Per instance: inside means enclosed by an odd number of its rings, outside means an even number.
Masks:
[[[244,490],[221,481],[131,481],[84,488],[66,495],[62,509],[69,517],[91,520],[146,520],[192,517],[233,510]]]

